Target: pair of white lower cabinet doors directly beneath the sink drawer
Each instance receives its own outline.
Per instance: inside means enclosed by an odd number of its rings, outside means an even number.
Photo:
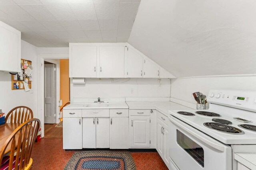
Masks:
[[[109,148],[109,117],[83,118],[83,148]]]

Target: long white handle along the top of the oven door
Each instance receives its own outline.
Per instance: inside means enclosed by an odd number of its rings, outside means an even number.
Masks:
[[[178,127],[182,128],[184,131],[188,132],[190,135],[196,137],[197,139],[203,141],[204,143],[206,143],[207,145],[211,146],[211,147],[214,147],[215,149],[217,150],[220,150],[221,152],[224,152],[225,151],[225,148],[224,146],[220,145],[219,143],[217,143],[217,141],[210,141],[208,140],[207,138],[208,137],[202,137],[200,135],[198,135],[197,133],[195,133],[194,131],[186,128],[184,125],[182,125],[181,123],[179,123],[178,121],[176,121],[175,119],[176,118],[173,118],[173,117],[168,117],[169,120],[174,123],[175,125],[177,125]],[[210,137],[209,137],[210,138]]]

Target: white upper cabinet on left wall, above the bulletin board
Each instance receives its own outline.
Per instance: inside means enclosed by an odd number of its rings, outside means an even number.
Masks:
[[[20,72],[20,31],[0,21],[0,71]]]

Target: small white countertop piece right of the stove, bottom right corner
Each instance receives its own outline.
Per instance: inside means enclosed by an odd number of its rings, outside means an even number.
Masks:
[[[256,153],[235,153],[235,160],[252,170],[256,170]]]

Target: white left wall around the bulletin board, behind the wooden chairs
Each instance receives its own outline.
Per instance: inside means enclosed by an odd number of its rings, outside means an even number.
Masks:
[[[37,47],[22,40],[21,58],[32,61],[32,88],[28,92],[12,90],[11,74],[0,72],[0,109],[7,114],[16,106],[28,106],[32,109],[34,117],[37,117]]]

